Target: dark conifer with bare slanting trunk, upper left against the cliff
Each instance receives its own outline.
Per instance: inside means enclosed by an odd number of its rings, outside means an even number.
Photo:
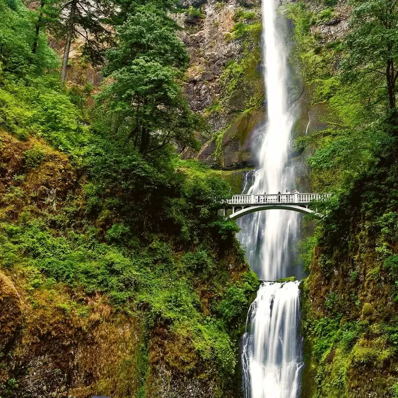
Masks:
[[[108,23],[112,4],[107,0],[70,0],[62,4],[59,29],[65,35],[65,50],[62,58],[61,80],[66,78],[69,52],[74,37],[85,39],[84,53],[96,64],[103,60],[104,44],[112,42]]]

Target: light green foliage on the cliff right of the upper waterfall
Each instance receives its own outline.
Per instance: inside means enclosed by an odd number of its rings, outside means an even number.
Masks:
[[[355,59],[356,62],[370,62],[361,55],[369,49],[369,43],[363,40],[361,29],[364,24],[356,16],[362,6],[358,5],[358,10],[354,10],[353,30],[347,41],[329,42],[323,46],[310,33],[309,27],[331,19],[333,12],[324,9],[314,14],[303,2],[288,8],[288,15],[295,21],[297,47],[294,54],[301,60],[313,102],[322,103],[318,106],[325,109],[321,120],[328,126],[297,140],[298,148],[310,146],[315,150],[309,164],[318,190],[337,191],[350,187],[355,179],[363,177],[378,162],[383,149],[393,140],[387,102],[378,100],[373,106],[366,96],[366,93],[378,90],[380,79],[375,80],[374,75],[370,77],[368,73],[365,76],[369,79],[363,79],[361,71],[369,72],[367,67],[362,70],[359,64],[353,64]],[[371,36],[372,32],[369,32],[369,40]],[[341,62],[337,64],[336,59]]]

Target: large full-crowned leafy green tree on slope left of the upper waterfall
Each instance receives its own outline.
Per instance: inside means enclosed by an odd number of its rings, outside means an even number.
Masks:
[[[103,69],[111,83],[98,96],[113,132],[142,155],[171,141],[195,147],[200,120],[179,83],[188,54],[174,23],[145,6],[117,30],[118,45],[107,52]]]

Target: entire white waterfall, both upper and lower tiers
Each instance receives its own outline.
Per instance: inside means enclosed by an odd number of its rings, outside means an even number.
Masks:
[[[267,125],[255,152],[259,167],[249,194],[282,194],[296,187],[294,165],[288,163],[294,106],[288,106],[287,55],[276,17],[278,0],[262,0],[264,81]],[[300,215],[267,210],[243,217],[238,239],[252,269],[263,281],[302,277],[295,266]],[[298,282],[261,285],[252,303],[243,336],[242,368],[246,398],[298,398],[302,367],[299,336]]]

